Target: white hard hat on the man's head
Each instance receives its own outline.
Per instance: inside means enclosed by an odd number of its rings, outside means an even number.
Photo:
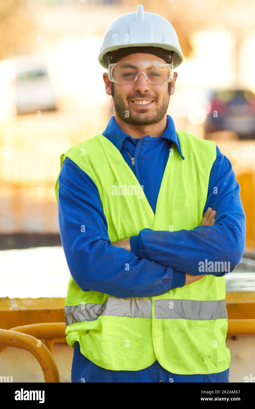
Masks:
[[[98,61],[108,69],[113,62],[109,52],[129,47],[159,47],[170,51],[174,68],[183,62],[181,46],[172,24],[158,14],[143,11],[142,4],[138,4],[136,12],[123,14],[107,27]]]

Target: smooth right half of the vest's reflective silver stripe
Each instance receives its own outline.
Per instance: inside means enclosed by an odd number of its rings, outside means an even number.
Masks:
[[[219,319],[228,318],[226,300],[156,300],[155,318]]]

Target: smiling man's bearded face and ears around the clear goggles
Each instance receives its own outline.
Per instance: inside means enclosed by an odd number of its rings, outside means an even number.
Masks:
[[[148,53],[129,54],[117,62],[131,60],[165,62],[162,58]],[[174,74],[176,74],[176,76],[174,77],[174,80],[172,80],[172,83],[173,81],[175,83],[177,77],[177,73]],[[128,85],[113,82],[110,82],[110,84],[115,114],[123,121],[135,125],[150,125],[158,123],[165,116],[169,105],[170,95],[173,93],[171,92],[170,82],[161,85],[149,84],[142,73],[138,75],[136,81]],[[152,103],[150,103],[149,106],[137,106],[133,101],[139,99],[146,99],[152,101]]]

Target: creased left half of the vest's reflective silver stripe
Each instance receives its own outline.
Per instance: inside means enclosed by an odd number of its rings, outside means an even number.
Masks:
[[[100,315],[151,318],[151,299],[108,297],[104,304],[65,306],[65,324],[94,321]]]

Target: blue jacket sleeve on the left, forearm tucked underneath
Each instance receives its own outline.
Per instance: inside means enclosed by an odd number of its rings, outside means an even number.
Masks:
[[[185,284],[185,274],[111,244],[97,187],[69,158],[59,175],[58,212],[70,274],[83,291],[152,297]]]

